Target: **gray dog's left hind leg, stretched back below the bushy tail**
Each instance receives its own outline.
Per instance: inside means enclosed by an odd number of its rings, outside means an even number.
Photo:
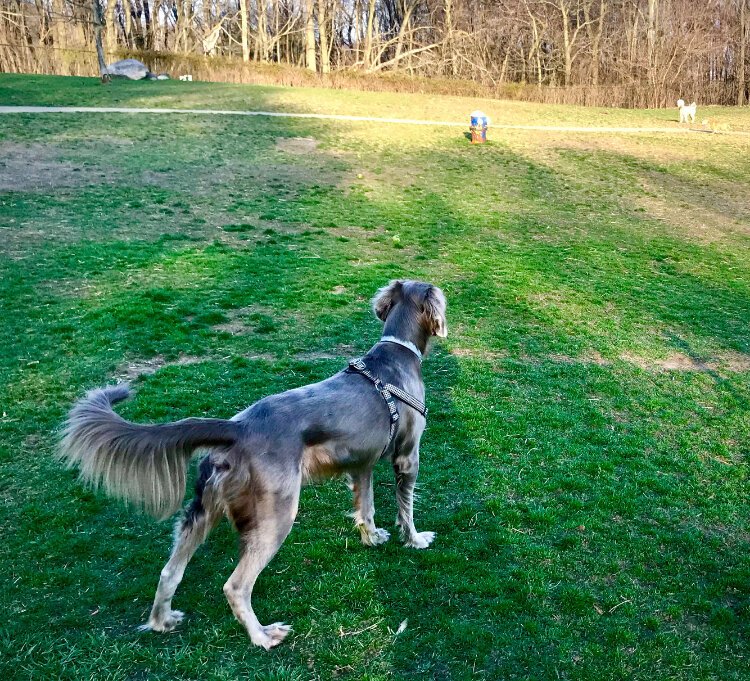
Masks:
[[[172,597],[182,581],[185,568],[193,554],[205,541],[208,533],[222,515],[222,511],[213,504],[209,503],[208,508],[203,504],[206,482],[212,472],[213,466],[206,457],[201,462],[200,476],[195,485],[195,498],[175,528],[172,554],[162,568],[151,614],[148,622],[140,626],[141,631],[171,631],[182,621],[183,613],[179,610],[172,610]]]

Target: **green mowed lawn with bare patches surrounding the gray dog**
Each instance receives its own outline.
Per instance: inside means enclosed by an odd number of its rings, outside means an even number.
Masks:
[[[0,76],[0,104],[152,100],[675,117]],[[716,115],[750,129],[747,109]],[[5,679],[748,678],[750,138],[490,138],[0,116]],[[224,599],[237,557],[226,522],[177,592],[182,626],[139,633],[171,524],[87,491],[54,460],[73,400],[127,379],[127,418],[229,417],[365,352],[380,333],[369,300],[397,277],[438,284],[449,302],[449,337],[424,363],[416,506],[436,542],[365,548],[345,485],[309,487],[254,593],[261,621],[293,625],[282,646],[252,647]],[[383,462],[388,529],[393,492]]]

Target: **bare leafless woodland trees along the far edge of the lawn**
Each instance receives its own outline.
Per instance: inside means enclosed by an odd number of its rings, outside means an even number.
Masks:
[[[0,69],[93,74],[101,27],[108,60],[147,53],[220,80],[251,74],[242,60],[326,82],[395,72],[543,101],[744,104],[749,24],[750,0],[4,0]]]

